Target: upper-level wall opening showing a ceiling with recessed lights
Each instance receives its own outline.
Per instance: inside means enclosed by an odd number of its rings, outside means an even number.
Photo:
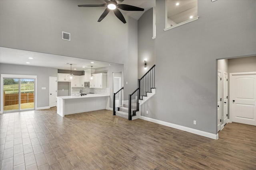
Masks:
[[[166,29],[198,20],[197,0],[166,0]]]

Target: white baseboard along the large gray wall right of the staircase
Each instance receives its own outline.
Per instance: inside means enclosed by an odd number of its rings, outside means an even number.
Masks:
[[[182,130],[182,131],[194,133],[194,134],[201,135],[201,136],[204,136],[204,137],[208,137],[208,138],[211,138],[211,139],[218,139],[219,138],[218,133],[213,134],[213,133],[200,131],[200,130],[197,130],[197,129],[192,129],[190,127],[176,125],[176,124],[173,124],[173,123],[168,123],[168,122],[165,122],[165,121],[160,121],[160,120],[156,120],[156,119],[152,119],[152,118],[144,117],[144,116],[140,116],[140,119],[143,119],[143,120],[146,120],[146,121],[151,121],[151,122],[154,122],[154,123],[158,123],[160,125],[172,127],[172,128],[179,129],[179,130]]]

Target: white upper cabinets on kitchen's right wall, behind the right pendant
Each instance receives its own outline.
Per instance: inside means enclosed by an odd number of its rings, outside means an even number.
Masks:
[[[93,79],[90,80],[90,88],[106,88],[107,87],[107,74],[98,73],[92,74]]]

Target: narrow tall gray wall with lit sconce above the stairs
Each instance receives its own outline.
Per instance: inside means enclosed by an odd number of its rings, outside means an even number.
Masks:
[[[156,63],[156,41],[153,37],[153,8],[138,20],[138,78],[141,78]],[[146,59],[146,69],[144,60]]]

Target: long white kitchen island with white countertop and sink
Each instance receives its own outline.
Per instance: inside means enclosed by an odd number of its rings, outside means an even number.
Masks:
[[[87,94],[84,96],[59,96],[57,113],[64,117],[74,113],[106,109],[109,95]]]

